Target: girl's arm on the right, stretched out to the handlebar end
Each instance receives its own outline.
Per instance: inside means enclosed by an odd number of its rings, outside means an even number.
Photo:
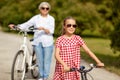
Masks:
[[[85,50],[85,52],[96,61],[98,67],[103,67],[104,63],[102,63],[95,54],[86,46],[85,43],[83,43],[82,48]]]

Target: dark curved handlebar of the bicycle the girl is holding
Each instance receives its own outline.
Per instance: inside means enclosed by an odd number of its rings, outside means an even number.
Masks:
[[[90,64],[90,68],[89,68],[89,69],[85,69],[85,66],[80,66],[79,69],[73,67],[73,68],[70,68],[70,72],[72,72],[72,71],[78,71],[78,72],[80,72],[80,73],[87,73],[87,72],[91,71],[91,70],[92,70],[93,68],[95,68],[95,67],[96,67],[96,66],[95,66],[94,64]]]

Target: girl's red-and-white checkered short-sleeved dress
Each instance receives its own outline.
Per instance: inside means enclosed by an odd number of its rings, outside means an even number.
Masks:
[[[61,59],[70,67],[80,67],[80,46],[84,43],[80,36],[73,35],[68,39],[64,35],[56,40],[56,48],[60,49]],[[56,61],[53,80],[80,80],[78,72],[62,73],[63,66]]]

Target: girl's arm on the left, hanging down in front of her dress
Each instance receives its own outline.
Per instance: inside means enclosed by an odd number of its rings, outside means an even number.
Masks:
[[[64,67],[64,72],[67,72],[70,70],[70,67],[68,67],[67,64],[61,59],[59,52],[60,52],[60,49],[55,48],[55,58]]]

